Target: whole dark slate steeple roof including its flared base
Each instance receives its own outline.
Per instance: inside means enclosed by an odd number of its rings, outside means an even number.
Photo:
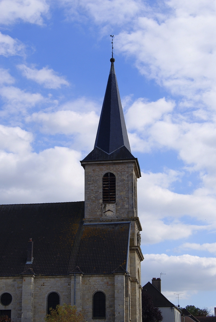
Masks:
[[[114,69],[114,58],[103,100],[94,149],[83,161],[134,159],[128,140],[122,103]]]

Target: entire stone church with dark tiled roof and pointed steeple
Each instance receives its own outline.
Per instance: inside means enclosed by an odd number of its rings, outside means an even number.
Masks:
[[[81,161],[85,200],[0,205],[0,315],[12,321],[43,322],[66,303],[87,322],[142,322],[141,172],[110,61],[94,149]]]

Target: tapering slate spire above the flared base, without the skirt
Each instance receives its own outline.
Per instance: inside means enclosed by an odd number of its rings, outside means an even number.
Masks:
[[[111,58],[110,74],[94,144],[94,147],[98,147],[108,154],[123,146],[131,152],[115,75],[114,61],[114,58]]]

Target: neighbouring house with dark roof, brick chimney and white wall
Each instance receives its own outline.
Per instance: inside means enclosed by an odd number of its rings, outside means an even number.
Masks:
[[[154,306],[162,312],[163,322],[181,322],[182,311],[161,293],[160,278],[153,278],[152,284],[150,282],[145,284],[142,292],[146,292],[152,297]]]

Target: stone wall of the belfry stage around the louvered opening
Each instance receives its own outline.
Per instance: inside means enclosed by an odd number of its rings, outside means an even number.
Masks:
[[[116,216],[102,218],[102,178],[107,172],[112,172],[116,177]],[[136,217],[134,178],[136,177],[132,161],[86,164],[85,219],[127,219]]]

